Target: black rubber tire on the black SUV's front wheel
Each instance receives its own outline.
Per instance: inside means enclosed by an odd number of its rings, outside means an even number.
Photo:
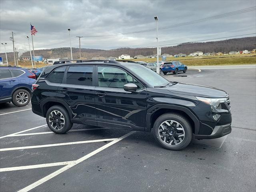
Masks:
[[[170,144],[167,144],[166,142],[164,142],[164,140],[162,140],[160,138],[160,133],[158,132],[158,129],[159,129],[160,125],[167,120],[173,120],[174,122],[178,122],[183,127],[185,136],[183,137],[183,140],[180,143],[175,144],[175,145],[170,145]],[[177,126],[177,124],[176,124],[176,126]],[[168,133],[170,133],[170,132],[168,132]],[[186,146],[188,146],[188,144],[192,140],[192,127],[191,127],[189,121],[186,118],[184,118],[184,116],[182,116],[180,114],[176,114],[176,113],[166,113],[166,114],[163,114],[160,117],[158,117],[156,119],[156,121],[154,122],[153,134],[154,134],[154,138],[156,139],[158,144],[160,144],[160,146],[162,146],[163,148],[166,148],[168,150],[182,150],[182,149],[186,148]],[[172,139],[171,135],[170,135],[170,138]],[[173,144],[173,142],[172,142],[172,144]]]

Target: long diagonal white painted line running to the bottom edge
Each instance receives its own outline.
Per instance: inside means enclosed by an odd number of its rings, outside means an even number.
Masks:
[[[26,186],[25,188],[19,190],[18,192],[27,192],[27,191],[29,191],[29,190],[34,189],[35,187],[39,186],[40,184],[42,184],[42,183],[44,183],[44,182],[50,180],[51,178],[57,176],[58,174],[61,174],[62,172],[68,170],[69,168],[75,166],[76,164],[79,164],[79,163],[83,162],[84,160],[90,158],[91,156],[94,156],[94,155],[97,154],[98,152],[101,152],[102,150],[104,150],[104,149],[106,149],[106,148],[112,146],[113,144],[119,142],[120,140],[122,140],[122,139],[124,139],[124,138],[126,138],[126,137],[128,137],[128,136],[130,136],[131,134],[134,134],[134,133],[135,133],[135,131],[131,131],[131,132],[129,132],[128,134],[125,134],[125,135],[123,135],[123,136],[120,137],[120,138],[115,138],[115,140],[113,140],[112,142],[110,142],[110,143],[108,143],[108,144],[106,144],[106,145],[104,145],[104,146],[102,146],[102,147],[96,149],[95,151],[90,152],[89,154],[83,156],[82,158],[80,158],[80,159],[74,161],[74,164],[68,164],[68,165],[66,165],[66,166],[64,166],[64,167],[62,167],[62,168],[60,168],[59,170],[57,170],[57,171],[51,173],[50,175],[45,176],[44,178],[42,178],[42,179],[40,179],[40,180],[38,180],[38,181],[36,181],[36,182],[30,184],[29,186]]]

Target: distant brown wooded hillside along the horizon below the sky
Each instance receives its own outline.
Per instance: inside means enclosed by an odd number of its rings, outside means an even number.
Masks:
[[[214,41],[214,42],[203,42],[203,43],[183,43],[177,46],[170,47],[162,47],[162,54],[168,53],[171,55],[184,53],[190,54],[196,51],[202,52],[230,52],[230,51],[238,51],[238,50],[252,50],[255,47],[253,44],[256,44],[256,37],[246,37],[246,38],[237,38],[237,39],[229,39],[222,41]],[[81,56],[86,58],[92,58],[94,56],[114,56],[118,57],[121,54],[129,54],[130,56],[135,55],[152,55],[156,54],[156,48],[118,48],[113,50],[99,50],[99,49],[85,49],[81,48]],[[79,48],[72,48],[73,58],[79,58]],[[70,58],[70,48],[62,47],[62,48],[52,48],[52,49],[44,49],[44,50],[35,50],[36,56],[43,56],[44,58]],[[22,56],[30,56],[29,52],[24,52]],[[5,54],[1,53],[0,57],[3,57],[5,60]],[[8,61],[13,61],[13,53],[8,53]]]

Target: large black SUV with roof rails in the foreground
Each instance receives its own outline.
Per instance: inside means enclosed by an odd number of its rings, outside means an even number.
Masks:
[[[180,150],[192,139],[231,132],[225,91],[170,82],[140,64],[84,61],[44,68],[32,85],[32,110],[49,128],[68,132],[73,123],[153,132],[164,148]]]

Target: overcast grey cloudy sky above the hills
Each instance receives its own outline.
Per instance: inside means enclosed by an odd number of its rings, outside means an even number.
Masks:
[[[38,30],[33,36],[35,49],[70,46],[67,28],[71,28],[72,47],[79,47],[76,36],[84,36],[81,38],[82,48],[154,47],[156,30],[124,34],[156,28],[154,16],[159,18],[159,28],[190,22],[160,29],[161,46],[210,39],[224,40],[226,38],[217,38],[229,36],[241,38],[255,36],[252,34],[256,33],[254,6],[256,0],[1,0],[0,42],[7,42],[6,50],[11,52],[12,42],[9,37],[13,31],[15,47],[28,50],[25,36],[30,36],[31,22]],[[254,7],[254,10],[205,22],[192,22],[250,7]],[[0,52],[4,52],[2,45]]]

